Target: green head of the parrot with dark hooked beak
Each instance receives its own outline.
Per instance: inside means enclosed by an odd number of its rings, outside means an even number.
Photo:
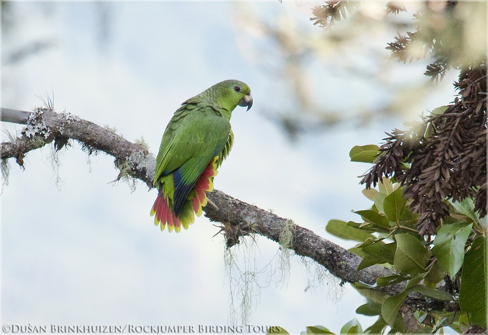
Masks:
[[[232,112],[237,106],[247,107],[247,110],[252,106],[251,89],[242,81],[224,80],[202,94],[207,91],[221,107],[229,112]]]

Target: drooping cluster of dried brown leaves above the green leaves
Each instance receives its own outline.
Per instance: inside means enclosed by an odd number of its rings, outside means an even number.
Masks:
[[[431,113],[408,131],[387,133],[374,166],[361,180],[366,187],[383,176],[401,182],[413,213],[420,215],[421,235],[436,233],[452,206],[447,199],[473,198],[474,211],[487,214],[486,80],[486,63],[461,73],[455,83],[460,96],[444,113]]]

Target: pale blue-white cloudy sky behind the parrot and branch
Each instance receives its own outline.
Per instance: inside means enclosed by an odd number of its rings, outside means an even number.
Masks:
[[[313,3],[16,2],[11,6],[16,26],[8,35],[2,32],[2,59],[35,40],[48,39],[56,45],[18,63],[2,62],[2,107],[30,110],[41,105],[36,96],[54,91],[58,112],[108,124],[130,141],[143,136],[156,153],[181,102],[221,80],[243,80],[251,87],[254,105],[249,112],[240,107],[234,111],[235,144],[215,187],[272,209],[342,246],[353,245],[327,236],[324,229],[332,218],[358,220],[351,209],[370,206],[356,178],[368,167],[349,162],[348,152],[354,145],[380,142],[384,131],[402,128],[402,121],[390,118],[359,129],[339,126],[291,142],[263,115],[289,108],[289,87],[255,66],[245,43],[259,37],[235,24],[249,10],[250,18],[259,15],[273,25],[285,16],[320,34],[309,21]],[[108,13],[105,33],[100,29],[102,10]],[[388,55],[385,41],[373,44]],[[408,70],[402,79],[427,81],[422,76],[425,62],[393,66],[391,73],[402,66]],[[332,106],[389,99],[374,96],[367,81],[336,78],[326,68],[315,69],[321,71],[316,78],[328,79],[312,85],[320,95],[317,99]],[[453,99],[454,75],[439,86],[431,85],[431,98],[419,102],[419,112]],[[22,128],[4,126],[14,133]],[[112,158],[100,154],[87,164],[87,155],[75,143],[61,151],[61,166],[53,172],[50,156],[47,147],[30,152],[24,159],[25,171],[10,160],[9,185],[1,196],[3,324],[228,323],[224,239],[212,237],[217,228],[201,217],[188,231],[161,233],[149,217],[156,190],[147,192],[142,183],[133,193],[123,183],[113,186],[109,182],[118,173]],[[61,190],[56,173],[62,179]],[[241,260],[249,253],[255,256],[258,271],[271,263],[259,276],[266,286],[270,269],[277,266],[277,251],[276,243],[258,237],[254,249],[242,245],[232,253]],[[363,298],[347,285],[341,289],[332,278],[305,292],[314,271],[292,257],[288,284],[277,287],[271,282],[263,288],[248,323],[280,325],[298,333],[318,324],[339,332],[353,317],[363,326],[372,322],[354,313]]]

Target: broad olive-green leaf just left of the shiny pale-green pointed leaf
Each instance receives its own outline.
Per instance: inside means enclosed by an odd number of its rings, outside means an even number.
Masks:
[[[395,270],[402,275],[417,275],[425,272],[429,257],[426,247],[410,234],[396,234],[395,239],[397,242],[393,261]]]

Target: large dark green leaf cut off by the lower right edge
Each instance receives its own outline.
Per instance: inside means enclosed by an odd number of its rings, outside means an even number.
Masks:
[[[468,312],[469,321],[482,328],[487,326],[487,263],[486,236],[478,236],[466,253],[461,272],[459,307]]]

